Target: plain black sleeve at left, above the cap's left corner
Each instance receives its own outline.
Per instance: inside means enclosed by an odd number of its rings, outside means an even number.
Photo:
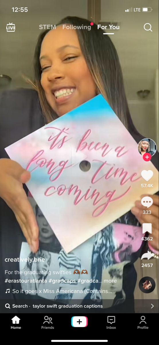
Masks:
[[[5,147],[44,126],[38,93],[31,89],[0,93],[0,158],[8,158]]]

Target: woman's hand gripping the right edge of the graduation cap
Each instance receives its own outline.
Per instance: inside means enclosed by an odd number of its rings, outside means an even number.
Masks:
[[[132,207],[132,214],[138,219],[139,223],[151,223],[152,224],[152,237],[150,241],[152,248],[159,249],[159,196],[158,195],[141,195],[141,199],[144,196],[150,196],[153,199],[153,204],[147,208],[142,206],[141,201],[135,201],[135,207]],[[144,210],[150,210],[151,214],[144,214]]]

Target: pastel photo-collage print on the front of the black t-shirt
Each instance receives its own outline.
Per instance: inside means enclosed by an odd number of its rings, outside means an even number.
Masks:
[[[123,269],[142,244],[137,219],[129,212],[67,254],[30,192],[28,200],[39,226],[40,247],[33,254],[29,245],[22,242],[20,257],[30,259],[20,262],[22,289],[70,304],[76,299],[81,303],[83,299],[95,303],[110,299],[107,306],[114,304],[114,299],[124,302]],[[45,261],[34,262],[34,257]]]

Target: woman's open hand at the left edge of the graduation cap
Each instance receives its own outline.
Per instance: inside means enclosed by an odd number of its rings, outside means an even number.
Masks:
[[[33,209],[23,189],[30,180],[30,172],[17,162],[0,159],[0,197],[12,209],[33,253],[39,248],[39,228]]]

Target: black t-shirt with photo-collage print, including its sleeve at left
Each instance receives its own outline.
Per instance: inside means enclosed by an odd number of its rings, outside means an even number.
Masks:
[[[0,158],[8,158],[4,148],[41,128],[44,118],[34,90],[2,92],[0,108]],[[130,134],[137,143],[143,138],[133,131]],[[156,155],[152,157],[155,166],[157,159]],[[133,263],[144,245],[141,226],[135,216],[128,212],[67,254],[25,185],[24,189],[39,225],[40,247],[36,254],[31,252],[12,210],[0,198],[3,298],[6,298],[6,289],[10,288],[7,297],[13,300],[42,298],[73,304],[78,299],[80,303],[89,300],[92,304],[103,305],[107,301],[106,307],[111,311],[112,306],[119,304],[123,309],[127,299],[132,301],[133,309],[137,276]],[[5,261],[5,258],[19,257],[28,260]],[[45,261],[33,260],[40,257]],[[5,275],[5,270],[12,273]],[[4,283],[5,278],[14,280],[12,284]],[[18,283],[16,279],[19,278],[21,282]],[[20,291],[21,288],[26,293],[13,294],[13,289]]]

